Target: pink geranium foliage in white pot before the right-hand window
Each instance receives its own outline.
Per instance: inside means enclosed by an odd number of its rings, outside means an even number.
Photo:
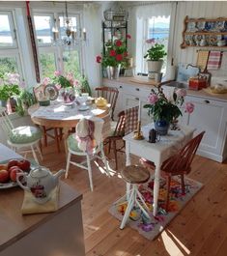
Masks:
[[[148,42],[148,41],[147,41]],[[149,43],[155,43],[155,40],[150,40]],[[164,44],[155,43],[150,49],[147,50],[147,53],[144,55],[144,58],[148,61],[159,61],[162,60],[164,56],[167,55]]]

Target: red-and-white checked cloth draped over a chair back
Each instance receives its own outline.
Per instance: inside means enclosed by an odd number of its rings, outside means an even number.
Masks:
[[[139,112],[139,106],[134,106],[126,109],[126,128],[125,128],[126,135],[137,128],[138,112]]]

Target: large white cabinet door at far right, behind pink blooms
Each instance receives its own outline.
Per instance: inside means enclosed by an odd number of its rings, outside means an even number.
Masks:
[[[206,131],[198,154],[223,161],[226,143],[226,103],[197,97],[186,97],[185,101],[191,101],[195,108],[190,115],[184,114],[184,122],[187,121],[188,126],[196,128],[196,134],[202,130]]]

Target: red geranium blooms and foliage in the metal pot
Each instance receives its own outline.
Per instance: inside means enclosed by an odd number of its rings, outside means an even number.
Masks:
[[[130,39],[130,35],[127,35]],[[102,56],[97,56],[97,62],[106,68],[108,66],[118,67],[128,63],[128,49],[127,44],[123,40],[108,41],[105,43],[105,53]]]

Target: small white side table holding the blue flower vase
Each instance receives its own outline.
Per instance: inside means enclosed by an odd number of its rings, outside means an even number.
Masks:
[[[181,126],[180,130],[169,130],[166,136],[161,136],[156,143],[148,142],[149,130],[154,128],[153,124],[142,127],[144,140],[134,140],[133,132],[126,135],[123,139],[126,141],[126,164],[130,165],[130,154],[144,157],[151,160],[156,165],[155,184],[154,184],[154,204],[153,214],[157,213],[157,200],[159,193],[160,166],[169,156],[174,155],[189,141],[194,132],[194,128]],[[127,188],[129,189],[129,187]]]

